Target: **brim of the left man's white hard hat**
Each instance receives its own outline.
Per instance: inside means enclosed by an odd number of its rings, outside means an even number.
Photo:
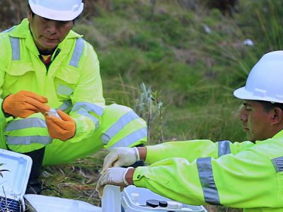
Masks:
[[[61,20],[61,21],[69,21],[77,18],[81,12],[83,11],[83,3],[79,6],[76,11],[56,11],[49,8],[43,8],[40,5],[33,4],[32,1],[29,0],[30,8],[37,16],[41,16],[43,18],[48,18],[51,20]]]

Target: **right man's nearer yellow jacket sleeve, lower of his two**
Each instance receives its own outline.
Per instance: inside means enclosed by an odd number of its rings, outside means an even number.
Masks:
[[[236,155],[192,162],[185,158],[160,160],[149,167],[137,167],[133,179],[137,187],[185,204],[255,208],[282,207],[279,175],[282,173],[276,172],[270,158],[248,148]]]

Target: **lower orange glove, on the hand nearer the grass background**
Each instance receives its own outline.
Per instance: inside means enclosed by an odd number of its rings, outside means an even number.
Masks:
[[[67,141],[76,134],[76,123],[62,110],[57,110],[57,112],[62,119],[59,119],[58,117],[50,117],[48,114],[45,114],[48,132],[52,139]]]

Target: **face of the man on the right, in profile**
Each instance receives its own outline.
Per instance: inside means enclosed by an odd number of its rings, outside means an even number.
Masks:
[[[262,141],[273,136],[272,112],[265,112],[260,102],[244,100],[240,112],[248,141]]]

